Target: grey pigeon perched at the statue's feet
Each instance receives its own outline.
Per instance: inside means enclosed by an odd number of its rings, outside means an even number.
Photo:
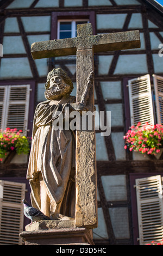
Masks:
[[[32,221],[30,224],[32,224],[34,221],[51,220],[40,210],[37,210],[36,208],[30,206],[26,199],[23,199],[22,201],[24,206],[24,215]]]

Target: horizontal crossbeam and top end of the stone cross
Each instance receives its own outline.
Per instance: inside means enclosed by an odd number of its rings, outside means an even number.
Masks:
[[[74,55],[77,50],[89,48],[94,52],[105,52],[140,47],[139,31],[92,35],[91,23],[79,25],[78,31],[77,38],[34,42],[31,47],[33,58]]]

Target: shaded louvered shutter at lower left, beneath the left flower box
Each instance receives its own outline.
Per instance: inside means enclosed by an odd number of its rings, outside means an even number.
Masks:
[[[0,180],[0,245],[22,245],[26,184]]]

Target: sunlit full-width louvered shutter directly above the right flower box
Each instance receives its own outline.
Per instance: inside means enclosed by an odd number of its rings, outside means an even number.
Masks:
[[[141,76],[128,81],[131,125],[141,122],[154,124],[150,76]]]

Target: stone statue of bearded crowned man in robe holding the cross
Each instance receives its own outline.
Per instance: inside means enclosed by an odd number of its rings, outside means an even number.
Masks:
[[[86,111],[71,96],[73,83],[62,69],[48,73],[45,84],[46,101],[36,107],[32,148],[27,179],[30,181],[32,205],[53,220],[74,218],[76,140],[72,130],[53,129],[57,111]]]

